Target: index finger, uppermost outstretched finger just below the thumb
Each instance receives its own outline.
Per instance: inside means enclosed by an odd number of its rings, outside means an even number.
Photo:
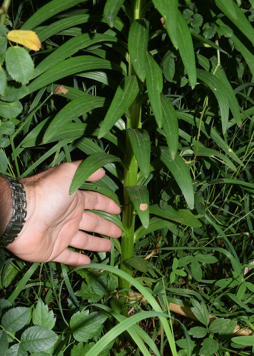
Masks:
[[[101,210],[110,214],[120,214],[122,211],[120,206],[106,195],[88,190],[79,190],[79,194],[83,195],[83,199],[85,198],[85,209],[87,210]],[[82,199],[81,195],[80,198]]]

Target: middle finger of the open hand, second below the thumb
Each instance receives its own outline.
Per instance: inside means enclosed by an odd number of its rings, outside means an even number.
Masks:
[[[113,237],[114,239],[120,237],[122,234],[122,230],[116,224],[101,218],[101,216],[96,215],[91,211],[85,211],[83,213],[79,229],[96,232],[97,234]]]

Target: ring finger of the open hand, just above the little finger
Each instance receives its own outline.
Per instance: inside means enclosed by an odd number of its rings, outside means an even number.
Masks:
[[[78,231],[70,246],[88,251],[107,252],[111,249],[112,242],[103,237],[92,236],[86,232]]]

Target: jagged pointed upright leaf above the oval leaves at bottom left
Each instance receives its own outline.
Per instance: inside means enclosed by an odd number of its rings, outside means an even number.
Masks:
[[[33,309],[32,319],[34,325],[44,326],[51,330],[55,326],[53,310],[48,311],[48,305],[44,305],[41,298],[39,298],[36,308]]]

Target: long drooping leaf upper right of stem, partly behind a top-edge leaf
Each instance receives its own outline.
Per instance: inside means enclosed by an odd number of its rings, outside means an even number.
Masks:
[[[177,23],[178,23],[178,46],[182,62],[189,76],[189,82],[191,88],[194,89],[197,81],[196,75],[196,63],[194,48],[192,44],[192,38],[189,31],[189,27],[182,16],[181,12],[177,12]]]

